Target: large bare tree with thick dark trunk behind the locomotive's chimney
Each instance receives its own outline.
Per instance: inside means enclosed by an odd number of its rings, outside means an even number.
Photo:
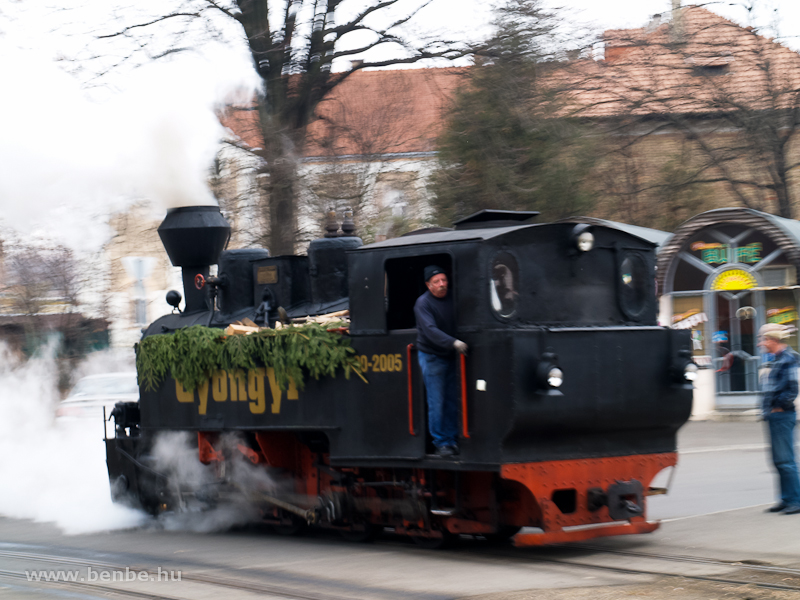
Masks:
[[[467,53],[463,44],[449,40],[415,43],[401,35],[402,26],[430,1],[398,16],[399,0],[371,0],[341,18],[343,0],[185,0],[176,10],[125,24],[101,38],[129,38],[146,48],[155,29],[169,27],[175,44],[157,54],[163,56],[184,49],[187,31],[197,31],[198,22],[206,36],[224,38],[231,25],[244,35],[264,88],[252,106],[239,109],[246,113],[239,115],[240,124],[249,122],[251,128],[244,136],[249,143],[240,147],[260,159],[266,176],[257,180],[269,215],[269,247],[286,254],[294,250],[297,234],[297,172],[306,129],[323,98],[361,69]],[[344,72],[332,70],[334,61],[341,64],[386,46],[398,54],[353,63]]]

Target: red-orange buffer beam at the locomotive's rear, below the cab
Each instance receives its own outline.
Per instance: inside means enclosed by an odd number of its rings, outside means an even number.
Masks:
[[[580,460],[506,464],[503,479],[518,482],[537,505],[541,533],[520,533],[517,546],[539,546],[601,536],[650,533],[646,518],[653,478],[677,464],[677,454],[643,454]],[[525,503],[521,503],[524,505]]]

